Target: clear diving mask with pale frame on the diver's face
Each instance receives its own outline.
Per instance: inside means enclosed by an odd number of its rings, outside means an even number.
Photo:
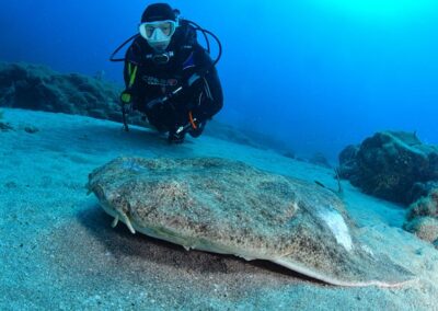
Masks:
[[[172,20],[146,22],[139,26],[140,35],[155,50],[165,50],[175,33],[177,23]]]

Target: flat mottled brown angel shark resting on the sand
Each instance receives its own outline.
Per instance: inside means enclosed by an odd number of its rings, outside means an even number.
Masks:
[[[266,260],[327,284],[400,286],[413,278],[359,243],[332,192],[217,159],[118,158],[89,189],[135,233],[220,254]]]

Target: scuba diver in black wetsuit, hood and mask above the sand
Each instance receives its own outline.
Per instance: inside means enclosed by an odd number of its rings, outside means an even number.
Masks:
[[[181,143],[185,135],[199,137],[209,120],[223,105],[222,88],[215,65],[221,55],[219,39],[196,23],[180,19],[180,12],[166,3],[146,8],[139,34],[117,48],[111,60],[125,61],[126,89],[122,93],[125,129],[126,117],[139,111],[170,142]],[[197,42],[200,31],[208,48]],[[219,45],[214,61],[207,35]],[[124,59],[115,54],[132,41]]]

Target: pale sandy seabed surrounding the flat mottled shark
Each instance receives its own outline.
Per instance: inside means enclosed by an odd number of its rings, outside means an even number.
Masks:
[[[438,310],[438,251],[401,229],[400,206],[348,183],[360,239],[413,272],[412,283],[336,287],[262,261],[187,252],[112,229],[84,187],[119,156],[221,157],[336,188],[327,169],[207,136],[170,146],[149,129],[88,117],[4,110],[2,122],[14,130],[0,131],[1,310]]]

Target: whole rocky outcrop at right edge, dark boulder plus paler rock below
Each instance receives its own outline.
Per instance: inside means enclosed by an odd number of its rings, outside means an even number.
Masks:
[[[438,245],[438,148],[383,131],[339,154],[339,173],[364,192],[410,206],[404,229]]]

